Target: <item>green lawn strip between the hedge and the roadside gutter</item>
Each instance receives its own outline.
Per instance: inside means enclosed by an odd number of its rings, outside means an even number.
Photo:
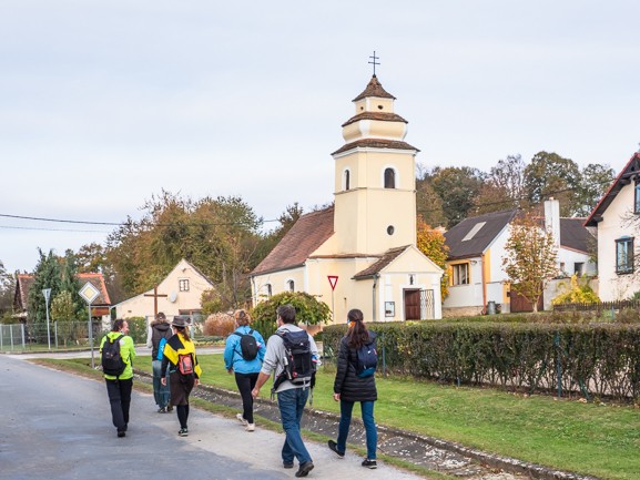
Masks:
[[[203,382],[235,390],[221,355],[202,355]],[[136,368],[151,371],[149,357]],[[314,408],[338,413],[333,372],[321,368]],[[640,411],[524,397],[495,389],[377,377],[376,421],[467,447],[610,480],[640,478]],[[261,395],[268,398],[267,386]]]

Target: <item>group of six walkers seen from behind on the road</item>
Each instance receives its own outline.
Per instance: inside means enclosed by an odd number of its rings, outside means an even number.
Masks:
[[[314,469],[313,459],[301,435],[301,420],[308,400],[314,378],[296,381],[287,378],[286,369],[291,358],[287,351],[286,336],[299,338],[304,330],[296,325],[295,308],[281,305],[276,310],[277,329],[265,343],[262,335],[251,327],[250,315],[241,309],[234,313],[235,330],[227,337],[224,349],[224,365],[242,397],[243,411],[236,418],[248,432],[255,431],[253,405],[261,388],[273,376],[272,395],[277,397],[281,422],[285,432],[282,447],[282,462],[286,469],[293,469],[297,460],[295,477],[307,477]],[[376,468],[377,430],[374,419],[374,404],[377,400],[375,376],[360,376],[357,372],[357,351],[363,345],[375,341],[375,334],[364,324],[363,313],[349,310],[348,330],[341,340],[337,370],[334,380],[334,399],[341,404],[341,420],[337,439],[328,441],[328,448],[344,458],[349,432],[352,412],[356,402],[360,404],[363,423],[366,430],[367,456],[362,466]],[[170,328],[171,327],[171,328]],[[189,336],[189,317],[176,316],[169,323],[159,313],[150,325],[149,346],[152,348],[154,399],[161,413],[175,408],[180,421],[179,435],[189,435],[189,396],[199,385],[202,370],[197,362],[193,341]],[[126,320],[115,320],[113,329],[102,340],[120,341],[120,351],[126,367],[122,375],[105,375],[106,390],[111,404],[113,425],[119,437],[124,437],[129,422],[131,388],[135,358],[133,340],[126,334]],[[124,336],[123,336],[124,335]],[[316,365],[319,365],[317,346],[306,334],[308,349]]]

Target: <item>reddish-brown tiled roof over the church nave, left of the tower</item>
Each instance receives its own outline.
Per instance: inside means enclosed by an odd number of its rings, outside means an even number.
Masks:
[[[252,276],[304,265],[334,233],[334,207],[303,215],[251,273]]]

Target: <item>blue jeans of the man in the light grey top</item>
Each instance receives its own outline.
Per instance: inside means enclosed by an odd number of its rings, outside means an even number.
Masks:
[[[282,447],[282,461],[284,463],[293,463],[294,457],[301,464],[311,461],[311,455],[308,455],[299,432],[299,421],[307,398],[308,388],[292,388],[277,394],[280,417],[286,435]]]

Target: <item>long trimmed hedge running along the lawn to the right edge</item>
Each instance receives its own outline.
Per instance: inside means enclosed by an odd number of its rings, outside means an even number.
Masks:
[[[628,324],[369,323],[379,370],[516,391],[640,396],[640,326]],[[325,356],[345,325],[324,328]],[[384,365],[382,365],[384,361]],[[560,382],[558,382],[560,377]]]

